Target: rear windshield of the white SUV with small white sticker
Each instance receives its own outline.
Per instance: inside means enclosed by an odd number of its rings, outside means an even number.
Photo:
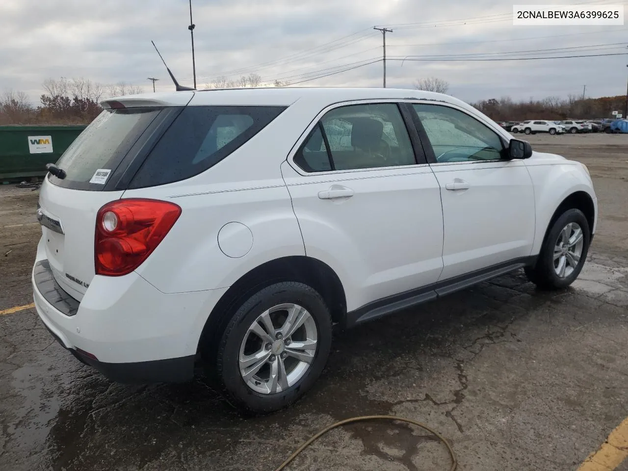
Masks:
[[[91,122],[57,161],[67,176],[51,183],[78,190],[102,190],[131,146],[163,111],[159,107],[107,109]],[[90,183],[97,170],[99,183]]]

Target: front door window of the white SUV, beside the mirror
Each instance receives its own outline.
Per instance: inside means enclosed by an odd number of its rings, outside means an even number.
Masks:
[[[497,160],[504,144],[495,131],[447,106],[413,104],[437,162]]]

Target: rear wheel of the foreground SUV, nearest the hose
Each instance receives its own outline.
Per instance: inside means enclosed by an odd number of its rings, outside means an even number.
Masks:
[[[310,389],[331,344],[332,318],[320,294],[303,283],[276,283],[237,309],[208,373],[241,411],[271,413]]]

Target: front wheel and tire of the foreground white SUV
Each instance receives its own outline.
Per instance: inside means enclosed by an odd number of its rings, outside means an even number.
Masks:
[[[566,210],[551,225],[536,265],[525,269],[528,279],[543,290],[560,290],[580,274],[591,241],[587,218],[579,209]]]

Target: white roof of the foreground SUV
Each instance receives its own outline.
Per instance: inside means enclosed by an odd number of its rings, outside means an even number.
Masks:
[[[443,101],[452,104],[463,102],[435,92],[412,89],[381,88],[323,88],[323,87],[271,87],[257,89],[197,90],[194,92],[161,92],[116,97],[102,102],[118,101],[125,106],[185,106],[193,105],[230,105],[230,106],[289,106],[300,99],[320,100],[321,102],[340,102],[369,99],[423,99]],[[141,102],[141,103],[140,103]],[[466,106],[465,106],[466,107]]]

